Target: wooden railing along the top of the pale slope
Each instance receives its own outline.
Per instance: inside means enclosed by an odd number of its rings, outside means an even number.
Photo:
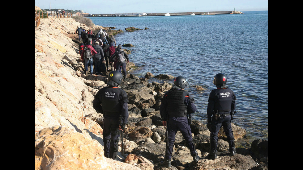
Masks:
[[[49,17],[53,17],[53,18],[71,18],[72,17],[72,13],[62,13],[62,12],[58,12],[58,11],[35,11],[35,23],[36,23],[36,27],[39,27],[40,25],[40,17],[41,18],[49,18]]]

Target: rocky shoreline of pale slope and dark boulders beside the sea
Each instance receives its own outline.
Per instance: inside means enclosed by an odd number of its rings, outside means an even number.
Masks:
[[[35,27],[35,169],[268,169],[266,140],[255,140],[249,148],[236,148],[237,154],[228,156],[228,143],[222,129],[218,158],[208,160],[210,132],[196,120],[191,128],[200,156],[198,163],[192,163],[186,142],[178,132],[173,167],[162,167],[166,129],[159,113],[160,98],[172,87],[165,80],[174,76],[147,73],[145,77],[137,77],[131,74],[136,67],[131,62],[127,64],[130,74],[120,86],[129,98],[129,123],[123,131],[124,155],[120,141],[119,160],[105,158],[103,116],[93,109],[92,101],[98,90],[106,86],[109,72],[84,75],[84,66],[79,60],[81,42],[75,34],[78,26],[88,29],[70,18],[41,19],[40,26]],[[100,28],[110,35],[123,32],[113,30],[113,27],[94,26],[91,29],[96,33]],[[149,82],[151,77],[164,82]],[[243,138],[245,130],[232,126],[235,140]]]

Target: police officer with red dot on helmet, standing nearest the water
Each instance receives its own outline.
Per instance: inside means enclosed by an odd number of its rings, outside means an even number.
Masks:
[[[236,154],[234,136],[231,126],[231,120],[236,108],[236,95],[233,90],[226,85],[226,76],[222,73],[216,74],[213,84],[217,89],[213,89],[208,98],[207,105],[207,123],[210,127],[210,145],[211,151],[207,155],[209,159],[216,159],[218,133],[223,126],[227,137],[231,156]]]

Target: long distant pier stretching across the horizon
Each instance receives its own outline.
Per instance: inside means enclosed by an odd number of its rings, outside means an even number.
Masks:
[[[191,15],[193,12],[172,12],[170,16]],[[223,14],[237,14],[237,11],[207,11],[194,12],[194,15],[223,15]],[[165,16],[166,13],[117,13],[117,14],[91,14],[86,17],[143,17],[143,16]]]

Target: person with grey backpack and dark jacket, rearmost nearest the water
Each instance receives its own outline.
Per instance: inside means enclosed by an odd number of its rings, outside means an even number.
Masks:
[[[130,60],[129,60],[128,55],[126,54],[126,52],[122,50],[121,44],[118,45],[118,47],[116,48],[116,52],[113,54],[113,56],[111,57],[110,60],[113,61],[114,57],[117,58],[116,70],[119,71],[120,73],[122,73],[121,68],[120,68],[120,66],[121,66],[122,70],[123,70],[124,78],[126,78],[127,77],[126,63],[125,63],[124,57],[126,58],[127,62],[130,62]]]

